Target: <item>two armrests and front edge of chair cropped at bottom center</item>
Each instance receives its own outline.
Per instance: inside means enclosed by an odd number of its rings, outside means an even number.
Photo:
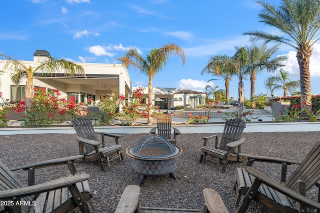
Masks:
[[[139,207],[140,187],[127,186],[120,198],[115,213],[201,213],[201,210]],[[203,189],[204,207],[202,213],[227,213],[219,194],[213,189]]]

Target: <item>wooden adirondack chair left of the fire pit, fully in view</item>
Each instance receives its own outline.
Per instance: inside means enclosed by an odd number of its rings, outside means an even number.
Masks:
[[[71,124],[78,135],[76,140],[79,142],[80,155],[84,155],[84,160],[92,160],[97,158],[101,167],[101,171],[105,171],[104,162],[107,162],[110,166],[110,161],[122,157],[122,146],[119,145],[118,139],[123,135],[95,132],[90,119],[85,117],[76,117],[71,121]],[[102,148],[100,142],[97,141],[96,134],[101,134]],[[110,147],[104,147],[104,136],[112,137],[115,140],[115,145]],[[84,147],[84,149],[83,149]]]

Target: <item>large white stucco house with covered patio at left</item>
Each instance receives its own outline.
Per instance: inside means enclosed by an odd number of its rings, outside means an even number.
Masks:
[[[46,50],[36,50],[33,61],[21,61],[25,66],[37,67],[42,57],[50,57]],[[10,79],[11,72],[3,70],[5,60],[0,61],[0,91],[4,99],[21,101],[24,99],[25,81],[21,81],[18,87]],[[63,73],[53,76],[43,76],[42,73],[34,73],[33,83],[35,87],[44,87],[47,90],[58,89],[61,97],[74,96],[78,103],[86,102],[88,98],[98,102],[100,95],[124,94],[130,95],[132,84],[129,74],[121,64],[102,63],[77,63],[84,68],[86,78],[83,76],[65,76]]]

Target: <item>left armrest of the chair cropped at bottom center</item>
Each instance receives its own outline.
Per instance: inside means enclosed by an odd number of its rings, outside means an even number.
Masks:
[[[139,195],[140,187],[136,185],[127,186],[122,193],[122,196],[114,213],[138,212],[136,211],[136,209],[138,208]]]

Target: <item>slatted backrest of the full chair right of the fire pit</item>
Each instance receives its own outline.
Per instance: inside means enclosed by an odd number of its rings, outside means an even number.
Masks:
[[[220,147],[221,150],[227,150],[226,144],[238,141],[241,138],[242,132],[245,128],[245,122],[241,119],[234,118],[225,122]],[[235,149],[232,150],[232,153]]]

